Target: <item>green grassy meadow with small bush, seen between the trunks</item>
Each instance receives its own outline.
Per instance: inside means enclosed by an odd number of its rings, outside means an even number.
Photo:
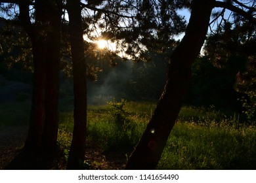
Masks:
[[[67,157],[74,120],[72,106],[64,103],[60,107],[58,144]],[[128,158],[155,107],[154,103],[127,101],[89,105],[87,146],[102,154],[119,152]],[[1,104],[0,130],[8,125],[25,125],[28,108],[24,102]],[[97,161],[85,160],[85,164],[92,168],[100,163]],[[214,107],[182,107],[158,169],[256,169],[256,126],[242,124],[238,115],[225,116]]]

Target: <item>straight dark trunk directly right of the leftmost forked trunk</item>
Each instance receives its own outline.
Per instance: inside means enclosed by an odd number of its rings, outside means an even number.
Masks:
[[[61,1],[50,1],[47,9],[49,32],[46,50],[45,124],[43,148],[49,152],[56,149],[58,136],[58,94],[60,70],[60,24]]]

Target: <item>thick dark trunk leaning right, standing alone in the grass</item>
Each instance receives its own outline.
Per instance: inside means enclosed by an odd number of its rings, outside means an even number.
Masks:
[[[125,169],[155,169],[175,125],[188,88],[191,65],[200,54],[214,0],[192,1],[192,12],[181,43],[171,55],[167,82],[146,131]]]

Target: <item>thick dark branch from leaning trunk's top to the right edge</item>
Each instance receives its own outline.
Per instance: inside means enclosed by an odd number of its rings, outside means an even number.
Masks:
[[[256,24],[256,18],[251,16],[251,14],[249,14],[248,12],[245,12],[244,10],[238,7],[235,7],[234,5],[231,5],[229,3],[224,3],[221,1],[215,1],[215,7],[226,8],[232,12],[236,12],[237,14],[240,14],[241,16],[249,20],[251,23]]]

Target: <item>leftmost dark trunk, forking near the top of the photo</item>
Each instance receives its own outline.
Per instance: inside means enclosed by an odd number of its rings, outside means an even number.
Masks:
[[[33,52],[33,93],[32,109],[30,114],[30,129],[26,139],[25,148],[41,149],[43,125],[45,122],[45,56],[46,44],[45,33],[41,30],[45,23],[45,12],[43,3],[35,3],[35,25],[30,22],[30,1],[20,1],[20,20],[26,33],[32,41]]]

